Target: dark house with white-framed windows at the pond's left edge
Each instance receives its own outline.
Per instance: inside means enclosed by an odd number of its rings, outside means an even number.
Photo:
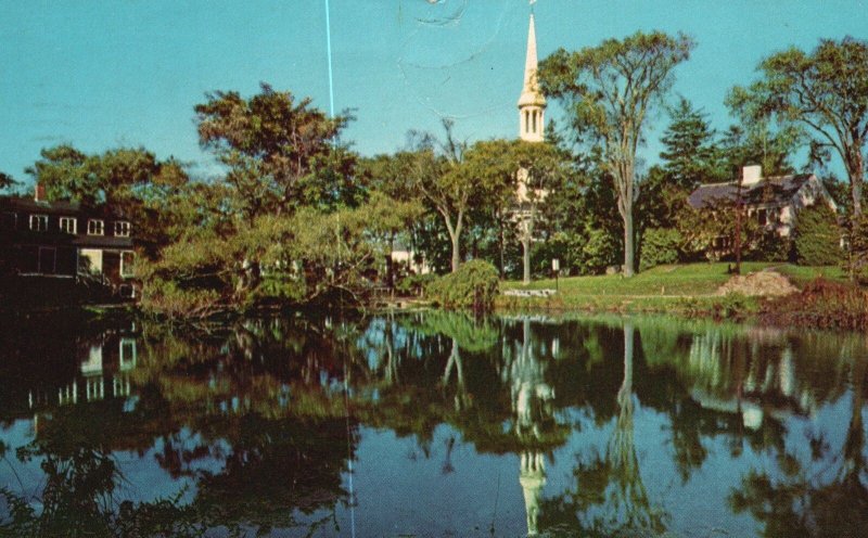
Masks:
[[[77,279],[133,296],[132,226],[108,207],[0,196],[2,266],[21,277]]]

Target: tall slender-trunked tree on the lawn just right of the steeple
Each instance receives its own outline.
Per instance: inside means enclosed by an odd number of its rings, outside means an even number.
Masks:
[[[625,277],[631,277],[635,267],[636,152],[649,113],[667,93],[673,69],[692,48],[693,41],[681,34],[639,31],[577,52],[560,49],[540,64],[546,94],[566,105],[579,136],[602,146],[624,221]]]

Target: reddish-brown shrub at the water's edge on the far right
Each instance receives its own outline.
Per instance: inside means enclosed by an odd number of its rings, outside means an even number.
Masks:
[[[801,293],[773,300],[763,312],[767,322],[820,329],[868,329],[868,292],[822,279]]]

